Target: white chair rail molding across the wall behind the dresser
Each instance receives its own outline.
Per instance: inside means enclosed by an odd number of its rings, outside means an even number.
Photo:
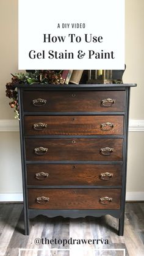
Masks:
[[[18,120],[0,119],[0,131],[19,131]],[[129,120],[129,131],[144,131],[144,120]]]

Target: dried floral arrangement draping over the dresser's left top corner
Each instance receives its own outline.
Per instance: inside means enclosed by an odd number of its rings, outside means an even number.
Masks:
[[[18,92],[16,84],[63,84],[63,70],[35,70],[34,72],[17,73],[12,75],[12,81],[6,84],[6,96],[12,99],[10,107],[15,109],[15,119],[19,120]]]

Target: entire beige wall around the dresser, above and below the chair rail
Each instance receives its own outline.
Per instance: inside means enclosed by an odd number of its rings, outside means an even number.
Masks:
[[[135,82],[131,90],[130,119],[144,120],[143,106],[143,45],[144,1],[126,0],[126,71],[124,82]],[[18,71],[18,0],[0,0],[0,121],[13,119],[9,99],[5,98],[5,84],[10,73]],[[129,133],[127,192],[142,192],[143,187],[143,132]],[[0,194],[21,193],[21,164],[19,133],[0,132]],[[144,198],[143,198],[144,199]]]

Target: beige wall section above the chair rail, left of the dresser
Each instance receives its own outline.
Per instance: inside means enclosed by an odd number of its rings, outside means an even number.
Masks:
[[[9,109],[9,99],[5,98],[5,84],[10,81],[10,73],[18,70],[18,1],[0,1],[0,119],[13,117]]]

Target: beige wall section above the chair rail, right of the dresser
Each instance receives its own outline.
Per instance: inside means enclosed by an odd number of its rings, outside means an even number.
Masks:
[[[144,86],[143,86],[143,59],[144,59],[144,1],[126,1],[126,33],[125,59],[126,72],[124,82],[137,83],[137,88],[131,90],[130,119],[144,119]]]

